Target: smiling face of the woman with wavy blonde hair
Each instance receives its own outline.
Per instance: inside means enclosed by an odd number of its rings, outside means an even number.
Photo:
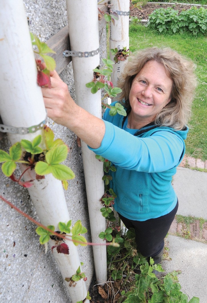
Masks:
[[[148,61],[132,81],[129,102],[133,119],[154,121],[171,100],[172,80],[160,63]]]

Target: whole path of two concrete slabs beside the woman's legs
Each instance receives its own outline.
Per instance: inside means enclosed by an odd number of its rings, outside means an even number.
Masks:
[[[207,173],[178,167],[172,183],[179,202],[177,215],[207,219]],[[175,234],[175,222],[173,224],[169,234]],[[189,299],[195,296],[200,299],[200,303],[206,303],[207,225],[204,225],[202,232],[196,228],[199,226],[194,224],[192,233],[196,236],[195,240],[168,235],[169,257],[172,260],[163,260],[162,265],[166,272],[181,270],[178,280],[182,292]]]

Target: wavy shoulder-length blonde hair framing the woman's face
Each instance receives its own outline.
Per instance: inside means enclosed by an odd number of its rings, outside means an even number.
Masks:
[[[157,114],[155,124],[181,130],[186,127],[191,116],[191,105],[197,86],[196,66],[171,48],[146,48],[131,55],[119,79],[118,86],[122,92],[118,100],[124,99],[124,106],[131,110],[129,92],[132,81],[150,60],[162,64],[173,82],[171,101]]]

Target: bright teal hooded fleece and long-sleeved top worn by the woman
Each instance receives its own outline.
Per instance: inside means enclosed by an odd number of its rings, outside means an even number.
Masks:
[[[101,145],[89,148],[116,167],[110,172],[110,187],[117,195],[114,209],[137,221],[168,214],[177,203],[171,181],[185,154],[188,128],[177,131],[150,123],[132,135],[122,129],[123,116],[110,116],[107,109],[103,119],[106,131]]]

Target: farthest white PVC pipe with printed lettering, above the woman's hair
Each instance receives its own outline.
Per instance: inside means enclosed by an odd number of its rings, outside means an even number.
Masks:
[[[111,9],[119,12],[129,12],[129,0],[111,0]],[[109,48],[123,49],[129,48],[129,15],[118,15],[118,20],[114,20],[114,24],[110,22],[110,40]],[[114,56],[110,52],[110,59],[114,61]],[[114,61],[115,62],[115,61]],[[114,64],[111,82],[117,87],[118,79],[126,61],[118,61]]]

